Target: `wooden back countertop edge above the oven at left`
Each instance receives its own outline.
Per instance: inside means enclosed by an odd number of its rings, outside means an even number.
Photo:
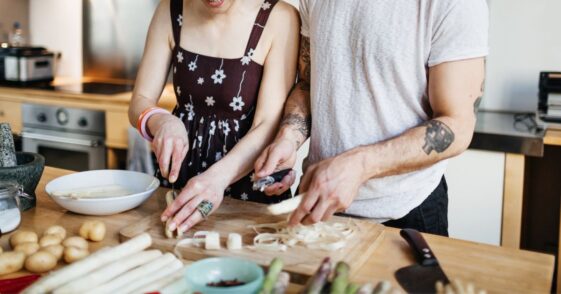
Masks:
[[[80,82],[93,81],[90,78],[83,79],[56,79],[55,85],[68,85]],[[98,82],[123,83],[123,81],[106,80]],[[22,103],[39,103],[45,105],[57,105],[66,107],[78,107],[87,109],[97,109],[105,111],[127,111],[132,92],[124,92],[115,95],[103,94],[81,94],[61,91],[50,91],[33,88],[17,88],[0,86],[0,100],[22,102]],[[167,85],[162,92],[159,105],[166,109],[172,109],[175,106],[175,94],[173,86]]]

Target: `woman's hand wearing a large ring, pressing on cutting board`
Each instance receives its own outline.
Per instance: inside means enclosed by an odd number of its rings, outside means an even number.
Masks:
[[[210,173],[202,173],[191,178],[175,201],[162,214],[162,222],[173,218],[168,229],[174,231],[177,228],[178,232],[184,233],[204,220],[197,206],[206,200],[212,203],[211,214],[218,209],[227,187],[226,183],[220,181],[223,180]]]

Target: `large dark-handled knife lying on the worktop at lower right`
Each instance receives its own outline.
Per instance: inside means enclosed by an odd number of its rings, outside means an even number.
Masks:
[[[444,285],[450,280],[440,267],[438,259],[421,233],[413,229],[403,229],[401,237],[413,249],[418,263],[395,272],[395,278],[408,293],[436,293],[436,282]]]

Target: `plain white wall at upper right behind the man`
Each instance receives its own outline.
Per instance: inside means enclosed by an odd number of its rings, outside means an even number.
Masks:
[[[539,72],[561,71],[561,1],[488,2],[491,52],[482,108],[535,111]]]

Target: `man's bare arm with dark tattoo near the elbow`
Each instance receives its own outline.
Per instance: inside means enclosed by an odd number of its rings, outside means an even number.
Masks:
[[[348,208],[369,179],[426,168],[465,151],[473,136],[484,76],[483,58],[432,67],[428,86],[432,119],[393,139],[310,166],[300,184],[306,197],[290,223],[327,220]]]

